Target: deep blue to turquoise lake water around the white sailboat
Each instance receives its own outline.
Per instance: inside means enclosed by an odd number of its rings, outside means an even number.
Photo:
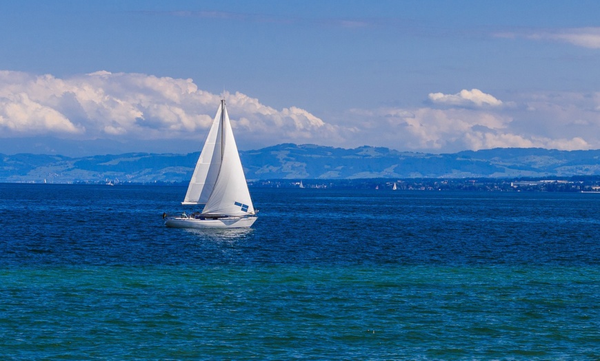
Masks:
[[[598,360],[600,196],[1,185],[1,360]]]

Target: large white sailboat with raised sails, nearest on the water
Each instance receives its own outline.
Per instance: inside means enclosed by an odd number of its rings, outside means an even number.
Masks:
[[[214,116],[182,205],[204,205],[201,212],[164,216],[174,228],[250,227],[257,220],[239,159],[225,100]]]

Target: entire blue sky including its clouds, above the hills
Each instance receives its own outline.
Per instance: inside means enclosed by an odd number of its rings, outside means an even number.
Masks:
[[[600,1],[0,0],[0,153],[600,149]]]

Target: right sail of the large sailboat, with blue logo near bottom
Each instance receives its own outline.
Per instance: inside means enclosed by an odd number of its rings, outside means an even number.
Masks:
[[[221,167],[214,183],[210,198],[206,202],[202,214],[226,214],[228,216],[247,216],[254,214],[254,206],[250,199],[248,183],[243,174],[239,152],[233,137],[229,115],[222,103],[221,114]]]

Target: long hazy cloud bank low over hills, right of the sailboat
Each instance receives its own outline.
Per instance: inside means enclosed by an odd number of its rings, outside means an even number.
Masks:
[[[448,99],[454,101],[460,94]],[[515,99],[503,103],[511,106],[352,110],[347,118],[354,119],[352,125],[357,132],[353,138],[352,134],[348,136],[355,145],[367,143],[420,152],[600,147],[599,93],[513,95]]]

